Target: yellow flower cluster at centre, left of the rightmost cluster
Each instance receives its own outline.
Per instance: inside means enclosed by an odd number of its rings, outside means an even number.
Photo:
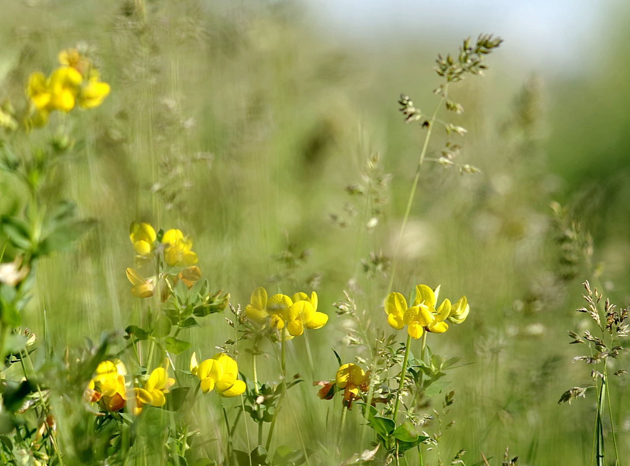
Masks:
[[[328,322],[328,315],[317,310],[316,292],[311,296],[298,292],[289,297],[286,294],[274,294],[267,298],[263,287],[258,287],[251,294],[251,300],[245,308],[248,318],[257,323],[267,323],[270,328],[283,332],[292,338],[304,333],[304,328],[321,328]],[[289,335],[286,335],[286,334]]]

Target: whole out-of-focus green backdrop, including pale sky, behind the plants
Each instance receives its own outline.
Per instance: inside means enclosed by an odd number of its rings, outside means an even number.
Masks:
[[[133,220],[190,235],[203,276],[229,291],[235,306],[248,304],[257,286],[315,289],[330,320],[292,341],[289,365],[306,382],[294,389],[297,414],[284,435],[294,441],[292,423],[306,425],[325,464],[334,457],[326,453],[326,418],[338,409],[319,400],[310,382],[335,374],[331,348],[345,362],[368,354],[346,344],[353,323],[335,317],[333,302],[348,291],[375,332],[392,332],[382,309],[387,264],[425,136],[420,124],[404,123],[396,101],[408,94],[430,114],[437,54],[493,33],[505,43],[488,57],[486,77],[452,87],[464,113],[440,114],[467,135],[436,131],[429,147],[434,157],[447,141],[457,143],[455,161],[483,174],[423,166],[394,290],[407,295],[418,283],[441,284],[445,297],[466,294],[471,303],[463,325],[428,341],[434,352],[473,363],[449,377],[449,420],[456,422],[440,443],[442,460],[466,448],[466,463],[480,452],[496,463],[510,447],[519,464],[587,464],[595,396],[557,402],[570,387],[592,382],[590,367],[571,363],[584,349],[568,345],[567,336],[591,325],[575,312],[583,280],[620,306],[630,301],[628,6],[143,5],[139,19],[126,0],[3,4],[0,97],[19,100],[30,72],[50,72],[57,52],[79,42],[91,47],[112,85],[98,110],[76,120],[77,155],[62,165],[50,194],[74,199],[98,226],[76,253],[41,264],[38,300],[25,318],[31,328],[42,331],[45,310],[50,338],[62,347],[135,323],[143,304],[125,277],[134,260]],[[375,154],[376,167],[366,169]],[[3,180],[0,188],[0,209],[20,202],[22,194]],[[190,332],[205,357],[233,336],[217,315]],[[239,367],[248,367],[248,357],[240,353]],[[614,363],[627,367],[627,360]],[[277,377],[272,363],[262,372]],[[615,382],[613,418],[627,457],[630,404],[626,381]],[[439,406],[441,397],[433,402]],[[358,410],[350,414],[348,422],[360,423]],[[216,415],[209,411],[207,422]],[[348,456],[355,451],[347,446]]]

